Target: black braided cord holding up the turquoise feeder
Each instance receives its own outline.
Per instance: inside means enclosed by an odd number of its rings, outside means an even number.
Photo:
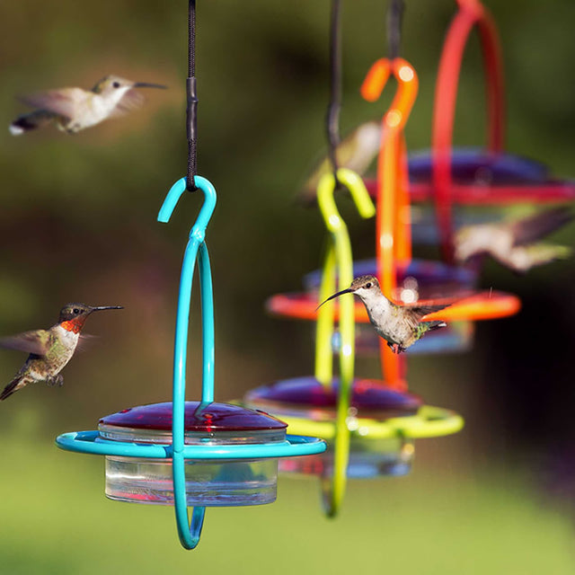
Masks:
[[[188,136],[187,188],[197,190],[194,176],[198,164],[198,95],[196,93],[196,0],[188,4],[188,78],[186,79],[186,132]]]

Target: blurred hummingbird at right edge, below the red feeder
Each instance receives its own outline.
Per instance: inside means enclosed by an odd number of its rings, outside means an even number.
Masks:
[[[514,221],[464,226],[454,239],[456,260],[465,262],[488,254],[510,270],[525,273],[534,266],[571,255],[569,247],[537,240],[572,219],[570,209],[561,207]]]

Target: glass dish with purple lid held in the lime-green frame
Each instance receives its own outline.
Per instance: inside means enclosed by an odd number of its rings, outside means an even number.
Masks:
[[[304,425],[305,430],[309,427],[321,435],[326,430],[323,426],[335,425],[338,388],[338,381],[322,385],[314,377],[296,377],[253,389],[245,396],[245,403],[277,413],[288,420],[290,429]],[[401,433],[382,434],[376,429],[377,422],[413,417],[421,405],[417,395],[398,392],[373,379],[354,380],[346,421],[351,432],[347,476],[366,479],[409,473],[415,453],[413,440]],[[332,438],[325,439],[325,453],[282,460],[279,471],[331,477],[334,443]]]

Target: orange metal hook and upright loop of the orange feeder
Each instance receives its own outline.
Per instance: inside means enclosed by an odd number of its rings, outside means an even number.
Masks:
[[[389,110],[382,119],[381,150],[377,159],[377,275],[385,296],[393,298],[397,260],[411,261],[408,174],[403,128],[418,91],[418,78],[409,62],[401,57],[381,58],[371,66],[361,85],[361,95],[376,102],[394,75],[398,87]],[[404,388],[403,363],[380,341],[380,354],[387,385]]]

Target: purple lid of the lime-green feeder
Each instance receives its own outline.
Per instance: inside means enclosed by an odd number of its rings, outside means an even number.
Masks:
[[[322,385],[315,377],[296,377],[264,385],[249,392],[249,405],[270,411],[294,413],[311,411],[314,419],[325,419],[335,414],[338,400],[338,380],[333,385]],[[392,417],[415,415],[422,401],[417,395],[390,389],[375,379],[355,379],[349,406],[357,410],[357,417],[385,420]],[[323,417],[322,417],[323,416]]]

